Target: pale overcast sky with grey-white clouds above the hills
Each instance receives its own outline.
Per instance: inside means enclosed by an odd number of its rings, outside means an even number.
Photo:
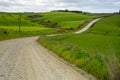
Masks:
[[[120,0],[0,0],[0,12],[47,12],[60,9],[118,12]]]

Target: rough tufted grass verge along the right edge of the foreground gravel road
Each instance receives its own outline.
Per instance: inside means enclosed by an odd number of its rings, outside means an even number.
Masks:
[[[84,34],[84,36],[87,34]],[[71,38],[71,36],[76,36],[76,38]],[[107,66],[105,65],[104,58],[99,53],[88,49],[84,49],[77,45],[79,38],[82,35],[62,35],[55,37],[40,37],[39,42],[50,49],[51,51],[58,54],[60,57],[75,64],[77,67],[82,68],[88,73],[93,74],[100,80],[107,80],[109,78]],[[84,37],[88,38],[89,37]],[[94,36],[94,35],[89,35]],[[94,36],[96,37],[96,36]],[[93,39],[93,38],[92,38]],[[69,42],[69,40],[71,40]],[[78,41],[76,41],[78,40]],[[76,41],[76,43],[74,43]]]

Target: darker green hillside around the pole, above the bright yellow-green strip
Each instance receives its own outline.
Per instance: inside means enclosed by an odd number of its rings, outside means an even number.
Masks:
[[[22,13],[21,26],[40,26],[27,19],[27,14]],[[0,26],[18,26],[20,19],[19,13],[0,13]]]

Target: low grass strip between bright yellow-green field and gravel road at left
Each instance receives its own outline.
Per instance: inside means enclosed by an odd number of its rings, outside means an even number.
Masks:
[[[32,36],[40,36],[40,35],[47,35],[47,34],[55,34],[57,33],[55,29],[46,29],[46,30],[39,30],[39,31],[18,31],[13,30],[6,30],[0,29],[0,41],[7,40],[7,39],[14,39],[14,38],[21,38],[21,37],[32,37]]]

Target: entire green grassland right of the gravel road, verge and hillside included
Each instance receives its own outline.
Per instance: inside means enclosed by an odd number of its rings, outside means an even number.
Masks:
[[[82,34],[43,36],[39,42],[99,80],[120,79],[120,15],[106,17]]]

